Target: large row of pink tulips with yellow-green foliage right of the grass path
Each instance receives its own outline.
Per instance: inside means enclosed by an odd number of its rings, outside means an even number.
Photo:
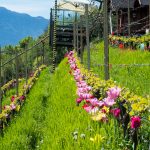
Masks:
[[[130,132],[136,149],[137,130],[141,126],[140,115],[148,110],[148,98],[133,95],[129,90],[116,86],[111,80],[100,80],[93,72],[84,69],[74,51],[69,52],[67,58],[71,68],[69,73],[74,76],[77,85],[76,103],[79,105],[83,102],[83,109],[95,121],[108,122],[113,115],[122,125],[124,137],[127,136],[127,131]]]

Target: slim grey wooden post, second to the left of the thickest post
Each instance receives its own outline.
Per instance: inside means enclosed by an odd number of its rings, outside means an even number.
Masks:
[[[81,57],[81,63],[83,63],[83,25],[82,25],[82,16],[80,17],[80,57]]]

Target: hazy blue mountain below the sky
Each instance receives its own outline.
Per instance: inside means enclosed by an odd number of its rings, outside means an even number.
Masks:
[[[44,32],[48,23],[43,17],[31,17],[0,7],[0,45],[15,45],[26,36],[36,38]]]

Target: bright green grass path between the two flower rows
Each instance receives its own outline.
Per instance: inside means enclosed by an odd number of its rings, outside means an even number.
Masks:
[[[120,149],[122,138],[116,136],[113,123],[93,122],[75,104],[76,86],[69,67],[63,61],[56,73],[45,70],[31,90],[21,113],[7,127],[0,138],[3,150],[96,150]],[[101,127],[101,128],[100,128]],[[77,140],[72,133],[78,131]],[[85,134],[85,139],[81,138]],[[100,134],[103,142],[93,144],[90,137]],[[115,140],[116,137],[117,140]],[[119,148],[120,147],[120,148]]]

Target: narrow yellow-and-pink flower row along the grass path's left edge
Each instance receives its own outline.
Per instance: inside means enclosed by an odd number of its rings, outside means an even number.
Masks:
[[[10,121],[11,117],[14,115],[15,112],[19,112],[21,106],[24,104],[26,99],[26,95],[31,90],[32,86],[34,85],[35,81],[38,79],[39,73],[45,68],[45,65],[40,66],[28,79],[27,85],[24,85],[22,90],[19,93],[19,96],[12,96],[10,98],[10,105],[6,105],[3,107],[2,113],[0,114],[0,120],[2,122],[1,128],[4,128],[8,122]]]

